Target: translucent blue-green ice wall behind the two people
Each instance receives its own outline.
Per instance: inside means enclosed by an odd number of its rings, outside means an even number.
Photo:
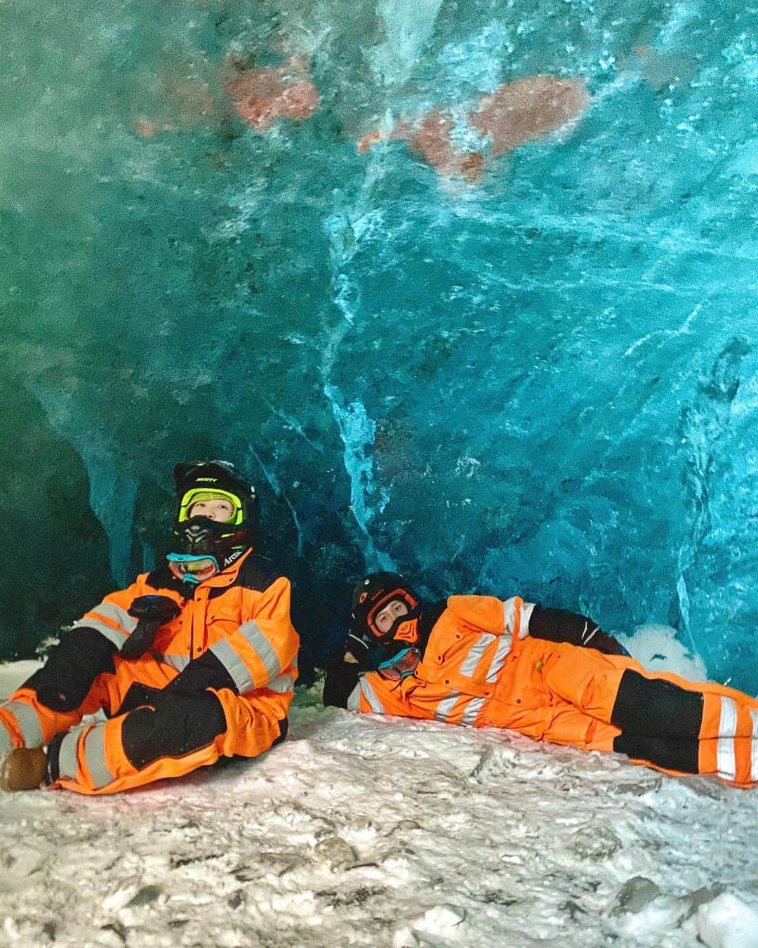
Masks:
[[[152,565],[171,465],[224,456],[261,486],[306,659],[352,580],[395,566],[429,595],[670,623],[757,691],[755,21],[731,0],[0,5],[0,652]],[[198,118],[181,90],[223,101],[230,50],[308,53],[314,117]],[[537,73],[584,76],[587,115],[477,186],[402,142],[356,153],[387,113]]]

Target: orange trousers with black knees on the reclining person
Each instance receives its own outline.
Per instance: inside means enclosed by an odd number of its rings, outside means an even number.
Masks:
[[[758,783],[758,700],[593,648],[536,639],[519,644],[482,723],[585,750],[618,751],[667,774],[713,774],[740,787]]]

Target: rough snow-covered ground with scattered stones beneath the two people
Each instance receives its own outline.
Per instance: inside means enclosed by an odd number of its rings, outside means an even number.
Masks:
[[[317,698],[254,762],[0,796],[0,943],[758,946],[758,793]]]

